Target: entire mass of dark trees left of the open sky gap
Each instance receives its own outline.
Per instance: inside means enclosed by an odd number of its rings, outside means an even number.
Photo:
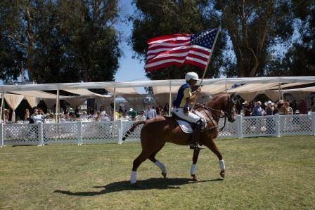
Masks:
[[[1,1],[0,10],[1,79],[16,79],[22,66],[37,82],[114,79],[117,1]]]

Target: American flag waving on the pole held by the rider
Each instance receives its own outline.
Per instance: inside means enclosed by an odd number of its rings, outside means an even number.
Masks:
[[[169,65],[191,64],[205,68],[218,32],[217,28],[199,34],[173,34],[150,39],[146,72]]]

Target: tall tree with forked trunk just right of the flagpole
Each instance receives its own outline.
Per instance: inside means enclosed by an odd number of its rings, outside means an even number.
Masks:
[[[293,34],[290,1],[214,1],[214,8],[221,13],[222,27],[236,55],[224,73],[229,77],[264,75],[272,47],[289,41]]]

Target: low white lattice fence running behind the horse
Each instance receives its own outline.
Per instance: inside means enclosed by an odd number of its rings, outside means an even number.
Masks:
[[[224,121],[220,120],[220,126]],[[59,124],[0,124],[0,146],[122,143],[122,136],[134,122],[66,122]],[[142,124],[124,142],[139,142]],[[315,136],[315,113],[242,117],[226,120],[219,138],[254,136]]]

